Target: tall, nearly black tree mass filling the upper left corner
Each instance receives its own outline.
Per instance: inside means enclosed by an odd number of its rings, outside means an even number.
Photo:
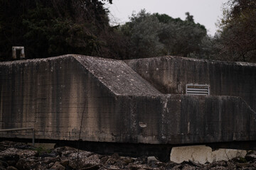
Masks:
[[[29,58],[67,53],[115,57],[117,49],[110,48],[121,43],[108,40],[119,33],[109,25],[105,2],[0,0],[0,60],[10,60],[14,45],[25,46]]]

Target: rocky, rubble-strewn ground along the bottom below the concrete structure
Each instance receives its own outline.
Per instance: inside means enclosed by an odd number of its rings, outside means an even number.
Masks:
[[[119,157],[95,154],[72,147],[55,149],[33,148],[24,143],[0,142],[1,169],[256,169],[256,152],[248,152],[245,158],[228,162],[196,164],[196,162],[159,162],[155,157]]]

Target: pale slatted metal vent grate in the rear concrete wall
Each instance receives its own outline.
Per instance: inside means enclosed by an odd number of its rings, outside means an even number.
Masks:
[[[186,84],[186,94],[190,95],[210,95],[210,86],[208,84]]]

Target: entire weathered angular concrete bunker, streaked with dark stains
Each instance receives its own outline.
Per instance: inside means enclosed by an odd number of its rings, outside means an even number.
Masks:
[[[0,63],[1,129],[37,139],[192,145],[256,140],[256,64],[82,55]],[[186,95],[210,85],[210,96]],[[0,137],[30,138],[30,132]]]

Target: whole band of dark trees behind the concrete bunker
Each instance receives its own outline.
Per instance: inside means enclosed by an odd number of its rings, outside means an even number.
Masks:
[[[166,14],[133,13],[123,26],[110,26],[104,8],[111,0],[0,0],[0,61],[11,47],[26,57],[68,53],[132,59],[176,55],[256,62],[256,1],[230,0],[214,37],[195,23]]]

